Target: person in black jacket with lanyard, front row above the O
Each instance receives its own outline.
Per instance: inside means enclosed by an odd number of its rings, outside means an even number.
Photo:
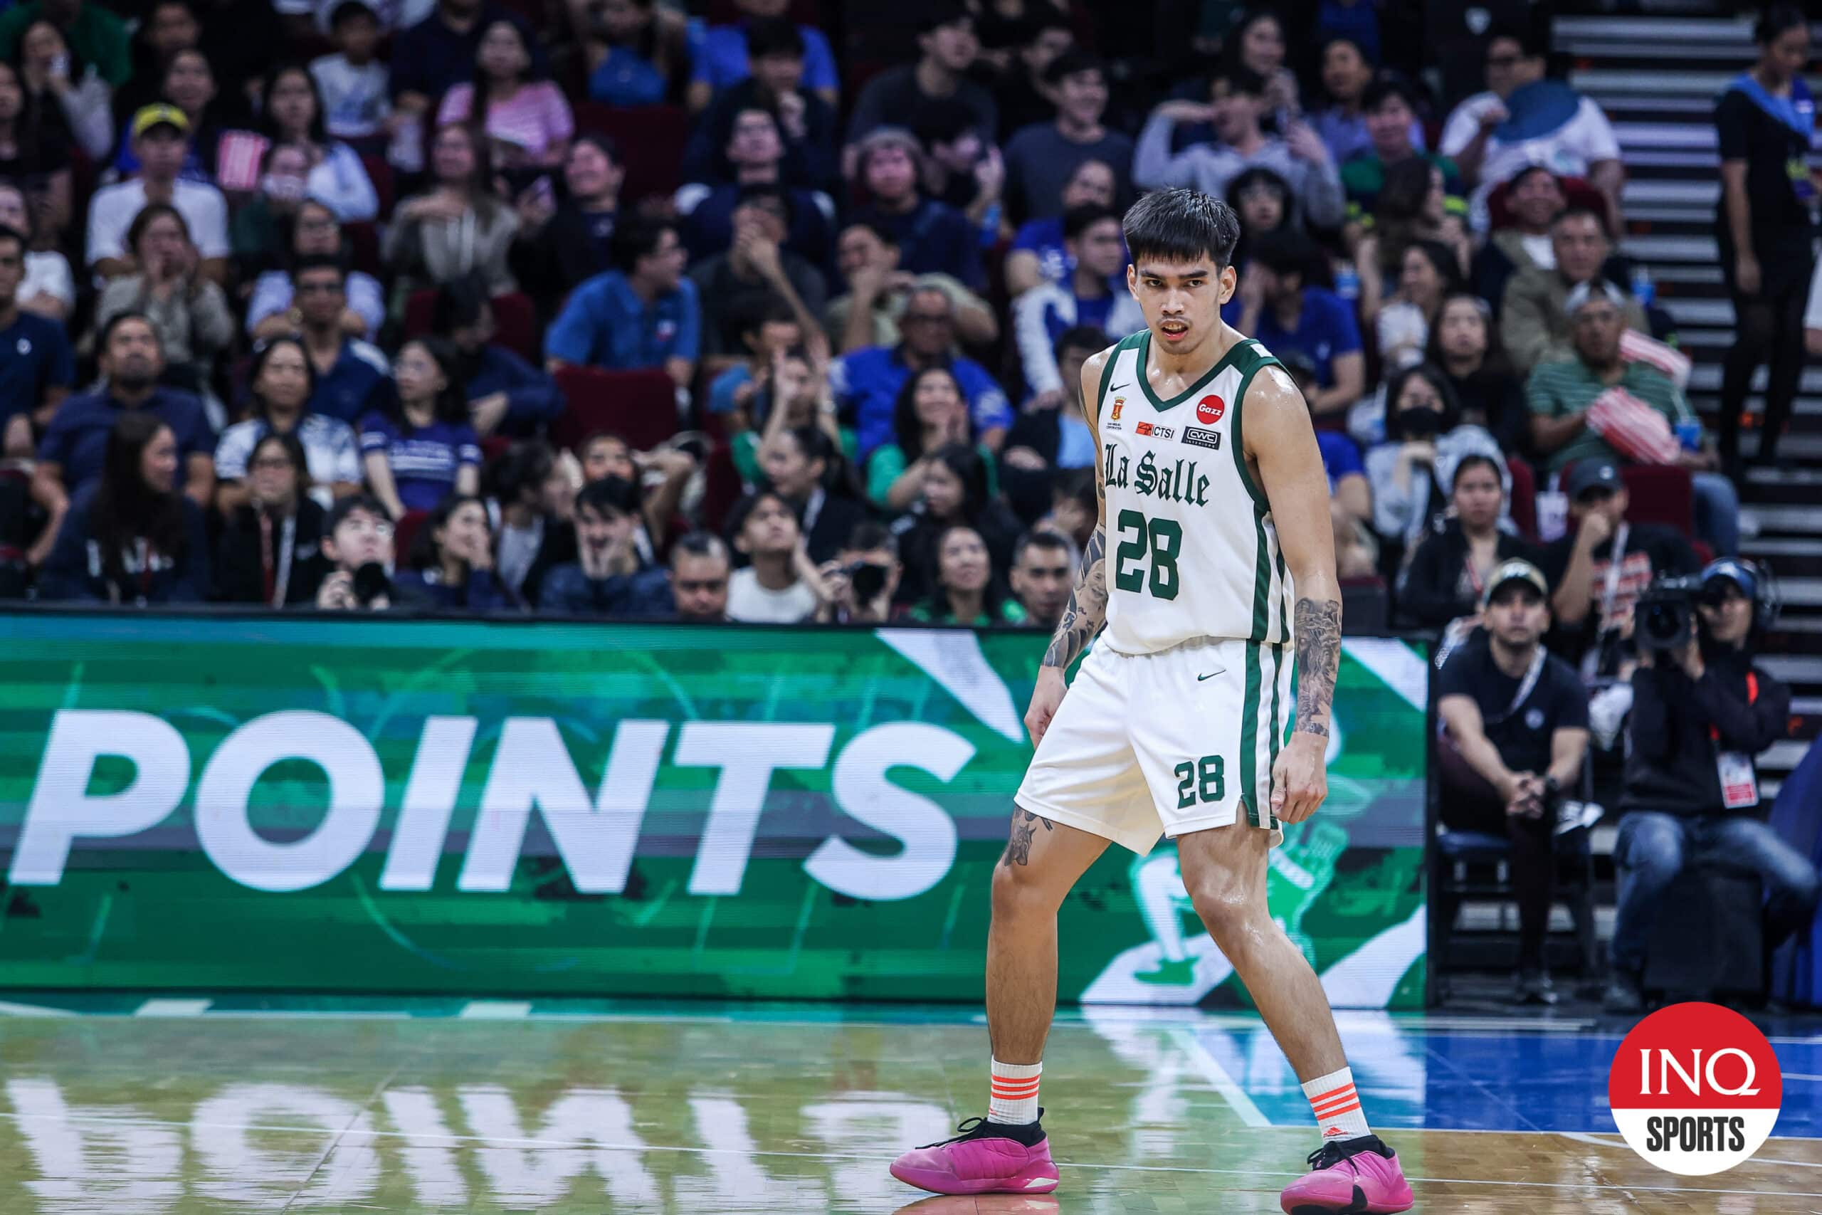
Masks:
[[[308,494],[310,470],[295,434],[268,434],[244,468],[244,499],[228,510],[215,545],[220,603],[301,607],[322,583],[326,512]]]

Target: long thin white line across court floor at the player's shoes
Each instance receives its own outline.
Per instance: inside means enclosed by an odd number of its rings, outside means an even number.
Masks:
[[[875,1160],[878,1164],[887,1164],[891,1157],[873,1155],[867,1151],[747,1151],[742,1148],[683,1148],[674,1144],[603,1144],[596,1140],[567,1140],[567,1138],[507,1138],[496,1135],[428,1135],[423,1131],[374,1131],[374,1129],[330,1129],[326,1126],[279,1126],[264,1122],[173,1122],[168,1118],[109,1118],[98,1115],[55,1115],[55,1113],[0,1113],[0,1118],[9,1118],[15,1122],[35,1120],[35,1122],[93,1122],[100,1126],[155,1126],[155,1128],[191,1128],[202,1131],[288,1131],[288,1133],[306,1133],[321,1135],[328,1138],[403,1138],[414,1144],[494,1144],[501,1148],[565,1148],[565,1149],[585,1149],[585,1151],[678,1151],[700,1157],[787,1157],[796,1160]],[[1430,1131],[1434,1135],[1448,1135],[1452,1131]],[[1569,1135],[1569,1131],[1561,1131]],[[1611,1148],[1603,1140],[1592,1140],[1603,1148]],[[1281,1171],[1281,1169],[1212,1169],[1212,1168],[1192,1168],[1186,1164],[1090,1164],[1086,1160],[1059,1160],[1057,1164],[1075,1169],[1100,1169],[1106,1173],[1195,1173],[1208,1177],[1303,1177],[1303,1171]],[[1784,1164],[1782,1160],[1747,1160],[1747,1164]],[[1804,1168],[1822,1168],[1822,1166],[1804,1166]],[[1405,1180],[1418,1184],[1434,1186],[1500,1186],[1505,1189],[1625,1189],[1625,1191],[1643,1191],[1643,1193],[1729,1193],[1729,1195],[1760,1195],[1767,1199],[1813,1199],[1815,1193],[1789,1191],[1789,1189],[1704,1189],[1698,1186],[1638,1186],[1638,1184],[1592,1184],[1592,1182],[1549,1182],[1549,1180],[1489,1180],[1483,1177],[1407,1177]]]

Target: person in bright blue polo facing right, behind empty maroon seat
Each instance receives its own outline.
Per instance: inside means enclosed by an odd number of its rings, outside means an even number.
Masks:
[[[545,333],[545,366],[663,368],[678,388],[696,375],[701,308],[683,277],[683,246],[670,224],[614,230],[614,270],[583,282]]]

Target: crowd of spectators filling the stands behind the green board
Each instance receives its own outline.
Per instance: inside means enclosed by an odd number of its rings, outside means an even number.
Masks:
[[[1186,5],[1175,58],[1080,4],[845,5],[902,62],[700,7],[0,13],[0,596],[1048,628],[1162,186],[1239,213],[1226,319],[1303,384],[1394,623],[1530,557],[1554,648],[1612,663],[1653,572],[1735,552],[1738,412],[1689,408],[1541,31],[1439,98],[1366,2]],[[1749,260],[1740,399],[1807,284]],[[1693,534],[1625,526],[1667,492]]]

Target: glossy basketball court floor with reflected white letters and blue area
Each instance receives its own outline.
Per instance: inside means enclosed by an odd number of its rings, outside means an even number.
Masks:
[[[4,1018],[0,1213],[1264,1213],[1314,1148],[1257,1022],[1095,1011],[1046,1060],[1062,1189],[922,1197],[884,1166],[978,1113],[977,1016],[678,1013]],[[1822,1211],[1822,1040],[1776,1042],[1760,1159],[1678,1179],[1605,1118],[1616,1036],[1390,1016],[1345,1035],[1418,1210]]]

